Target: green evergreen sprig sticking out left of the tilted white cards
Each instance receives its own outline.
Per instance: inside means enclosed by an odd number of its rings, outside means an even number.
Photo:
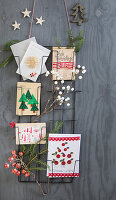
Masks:
[[[10,49],[10,46],[12,44],[15,44],[17,42],[20,42],[19,40],[11,40],[11,41],[8,41],[4,46],[3,46],[3,51],[10,51],[11,52],[11,49]],[[0,67],[3,67],[5,68],[10,62],[12,62],[14,60],[14,56],[13,54],[11,53],[4,61],[2,61],[0,63]]]

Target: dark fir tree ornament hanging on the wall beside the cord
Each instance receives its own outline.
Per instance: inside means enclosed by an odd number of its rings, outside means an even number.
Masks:
[[[81,26],[83,22],[88,21],[87,18],[85,18],[86,13],[84,12],[84,7],[80,4],[77,3],[72,10],[74,11],[71,16],[73,16],[73,20],[71,21],[72,23],[77,23],[78,26]]]

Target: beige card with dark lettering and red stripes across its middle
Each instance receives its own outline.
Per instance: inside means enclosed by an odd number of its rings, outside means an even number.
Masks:
[[[53,73],[53,80],[75,80],[73,70],[76,67],[76,53],[74,48],[53,47],[52,48],[52,70],[58,72],[57,76]]]

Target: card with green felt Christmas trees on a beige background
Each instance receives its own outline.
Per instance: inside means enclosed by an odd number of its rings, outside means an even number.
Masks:
[[[40,114],[41,83],[17,82],[16,115]]]

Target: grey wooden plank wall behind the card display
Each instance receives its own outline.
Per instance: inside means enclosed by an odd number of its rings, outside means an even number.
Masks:
[[[76,1],[66,0],[68,9]],[[52,184],[45,199],[58,200],[115,200],[116,199],[116,1],[81,0],[89,21],[81,26],[85,42],[78,54],[78,63],[87,67],[85,78],[76,81],[83,90],[76,95],[77,132],[82,133],[80,178],[72,184]],[[0,49],[12,39],[24,40],[29,34],[29,20],[20,11],[32,10],[32,0],[0,0]],[[37,0],[35,17],[43,16],[43,26],[33,24],[32,35],[41,45],[62,45],[68,41],[67,19],[63,0]],[[11,24],[21,23],[20,31]],[[74,35],[79,27],[72,24]],[[7,54],[0,52],[0,61]],[[3,168],[11,150],[16,148],[10,121],[17,121],[16,63],[0,69],[0,200],[43,199],[37,186],[19,183]],[[43,85],[45,83],[43,82]],[[46,119],[45,119],[46,118]],[[48,119],[46,115],[44,119]],[[29,118],[23,117],[23,122]]]

